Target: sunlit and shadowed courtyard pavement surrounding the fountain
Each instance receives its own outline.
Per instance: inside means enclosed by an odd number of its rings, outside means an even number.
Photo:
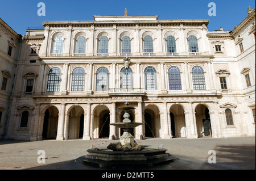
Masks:
[[[44,140],[44,141],[0,141],[0,170],[114,170],[119,168],[98,168],[82,162],[86,150],[98,140]],[[167,153],[179,161],[155,167],[133,167],[130,170],[255,170],[255,137],[239,138],[148,138],[136,140],[141,145],[164,145]],[[102,144],[103,142],[103,144]],[[116,142],[100,140],[100,145]],[[44,150],[46,163],[38,163]],[[212,153],[216,163],[209,163]]]

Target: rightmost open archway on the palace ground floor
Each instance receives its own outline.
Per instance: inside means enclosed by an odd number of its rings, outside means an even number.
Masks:
[[[196,127],[198,137],[212,136],[209,109],[204,104],[196,106]]]

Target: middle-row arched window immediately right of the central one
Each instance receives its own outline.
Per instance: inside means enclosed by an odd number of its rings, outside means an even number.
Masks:
[[[158,89],[156,70],[152,66],[148,66],[145,69],[145,87],[146,87],[146,90],[157,90]]]

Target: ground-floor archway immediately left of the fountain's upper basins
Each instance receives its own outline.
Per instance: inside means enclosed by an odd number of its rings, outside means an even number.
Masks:
[[[109,137],[110,124],[109,108],[100,105],[93,110],[93,138]]]

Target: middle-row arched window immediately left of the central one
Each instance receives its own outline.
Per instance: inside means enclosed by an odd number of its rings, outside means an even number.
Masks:
[[[96,91],[109,90],[109,71],[107,68],[101,67],[97,70]]]

